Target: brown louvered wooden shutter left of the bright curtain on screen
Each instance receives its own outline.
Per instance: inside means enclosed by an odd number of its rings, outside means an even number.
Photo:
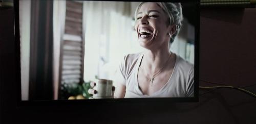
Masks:
[[[61,48],[61,84],[83,82],[82,3],[67,1]]]

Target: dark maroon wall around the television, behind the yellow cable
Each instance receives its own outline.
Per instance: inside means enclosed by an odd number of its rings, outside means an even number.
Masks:
[[[256,84],[256,9],[201,9],[200,79],[232,86]],[[109,108],[17,108],[17,59],[13,10],[0,10],[0,123],[255,123],[256,99],[218,89],[198,103],[125,105]],[[200,81],[201,86],[212,86]],[[247,87],[256,93],[256,86]],[[208,90],[200,89],[200,93]],[[166,105],[164,105],[166,106]],[[88,109],[87,109],[88,108]],[[147,109],[145,109],[147,108]],[[90,110],[90,111],[87,111]],[[95,110],[95,111],[94,111]]]

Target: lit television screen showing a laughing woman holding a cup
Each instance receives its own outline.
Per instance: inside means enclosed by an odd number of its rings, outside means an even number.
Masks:
[[[21,101],[197,101],[198,2],[19,0],[14,7]]]

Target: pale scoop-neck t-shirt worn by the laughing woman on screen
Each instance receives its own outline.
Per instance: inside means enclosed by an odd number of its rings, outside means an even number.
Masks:
[[[138,69],[142,57],[143,53],[126,55],[117,70],[114,81],[125,85],[125,98],[194,96],[194,65],[178,55],[168,82],[152,95],[143,94],[138,84]]]

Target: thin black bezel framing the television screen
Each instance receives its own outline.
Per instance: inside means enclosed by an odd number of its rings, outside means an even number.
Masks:
[[[87,0],[86,0],[87,1]],[[101,0],[105,1],[105,0]],[[109,0],[111,1],[111,0]],[[149,1],[122,1],[122,2],[149,2]],[[14,1],[14,36],[15,51],[17,59],[17,107],[24,106],[97,106],[104,104],[122,105],[122,104],[148,104],[161,105],[168,103],[184,103],[199,101],[199,29],[200,29],[200,1],[198,0],[174,0],[174,1],[150,1],[150,2],[180,2],[194,3],[196,6],[196,24],[195,24],[195,63],[194,63],[194,97],[161,97],[161,98],[109,98],[109,99],[92,99],[92,100],[43,100],[43,101],[22,101],[21,89],[21,68],[20,68],[20,34],[19,34],[19,0]]]

